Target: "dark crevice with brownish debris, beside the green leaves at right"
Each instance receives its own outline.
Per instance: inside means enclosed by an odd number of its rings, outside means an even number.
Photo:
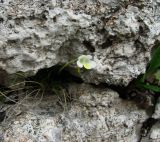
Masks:
[[[148,114],[153,113],[157,95],[146,89],[138,88],[135,80],[131,81],[128,86],[103,85],[118,92],[121,99],[134,102],[139,108],[145,109]]]

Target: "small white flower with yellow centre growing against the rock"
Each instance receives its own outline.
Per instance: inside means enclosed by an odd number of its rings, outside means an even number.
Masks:
[[[93,69],[96,67],[96,62],[92,61],[91,55],[81,55],[78,57],[77,66],[86,69]]]

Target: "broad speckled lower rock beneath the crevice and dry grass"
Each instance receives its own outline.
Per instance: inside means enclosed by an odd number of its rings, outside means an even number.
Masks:
[[[72,103],[60,102],[58,96],[44,96],[41,103],[26,98],[13,110],[22,111],[5,127],[4,142],[136,142],[145,110],[124,101],[107,88],[72,84]],[[67,96],[67,94],[62,94]],[[64,98],[61,98],[63,100]],[[62,106],[58,105],[62,104]],[[61,108],[62,107],[62,108]],[[65,110],[65,111],[64,111]]]

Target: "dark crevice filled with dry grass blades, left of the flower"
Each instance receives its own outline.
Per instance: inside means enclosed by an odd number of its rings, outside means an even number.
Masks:
[[[20,108],[26,108],[27,110],[28,107],[26,105],[30,105],[31,102],[33,104],[31,103],[29,108],[38,107],[40,103],[42,103],[41,107],[44,104],[44,108],[41,108],[44,110],[45,108],[48,109],[47,107],[50,104],[53,104],[53,108],[57,111],[69,108],[72,96],[69,96],[67,92],[68,85],[72,82],[83,83],[83,81],[70,74],[67,68],[59,72],[61,68],[62,66],[56,65],[41,69],[34,76],[24,77],[24,81],[16,85],[16,88],[0,86],[0,92],[7,96],[2,96],[2,99],[0,98],[0,122],[13,117],[14,114],[11,113],[14,111],[11,111],[12,109],[15,110],[17,107],[22,106]],[[49,104],[46,105],[45,103]],[[8,113],[7,107],[11,113]]]

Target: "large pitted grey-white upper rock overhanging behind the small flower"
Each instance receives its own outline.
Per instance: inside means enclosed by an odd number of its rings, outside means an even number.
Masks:
[[[92,55],[85,82],[127,85],[159,40],[159,1],[1,0],[0,68],[37,72]],[[73,65],[73,68],[76,64]]]

